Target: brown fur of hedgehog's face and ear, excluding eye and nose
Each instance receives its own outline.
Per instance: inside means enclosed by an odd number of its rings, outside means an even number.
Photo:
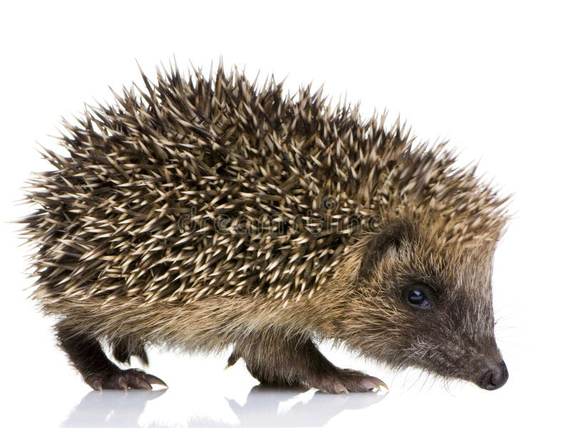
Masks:
[[[492,249],[439,248],[422,228],[402,220],[386,229],[370,240],[388,248],[373,270],[360,275],[345,340],[395,367],[478,382],[486,367],[502,361],[493,330]],[[403,290],[414,284],[428,287],[433,310],[407,304]]]

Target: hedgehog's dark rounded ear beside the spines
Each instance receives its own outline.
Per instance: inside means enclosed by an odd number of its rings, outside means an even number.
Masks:
[[[398,247],[404,240],[413,237],[413,224],[408,220],[395,220],[386,223],[380,231],[375,233],[368,244],[367,251],[359,270],[360,277],[368,277],[387,250]]]

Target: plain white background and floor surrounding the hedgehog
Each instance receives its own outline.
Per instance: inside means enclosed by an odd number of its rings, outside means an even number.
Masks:
[[[1,374],[4,427],[569,426],[570,10],[566,2],[332,1],[10,2],[1,6]],[[515,218],[497,250],[497,337],[510,380],[495,392],[445,389],[417,372],[390,372],[343,351],[338,365],[390,384],[332,396],[252,389],[225,357],[151,350],[166,392],[90,392],[54,345],[51,320],[26,300],[26,248],[15,205],[34,141],[56,146],[61,116],[111,100],[176,56],[209,68],[275,73],[286,87],[325,83],[337,100],[398,114],[419,141],[450,139],[461,163],[513,193]],[[434,383],[434,384],[433,384]]]

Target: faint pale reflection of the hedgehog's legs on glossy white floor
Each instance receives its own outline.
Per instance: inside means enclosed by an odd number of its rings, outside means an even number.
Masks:
[[[346,410],[365,409],[383,400],[380,394],[343,394],[330,396],[320,392],[268,389],[256,386],[241,403],[226,399],[231,417],[189,412],[186,421],[149,419],[153,404],[168,400],[166,389],[142,392],[89,392],[74,407],[61,427],[322,427]]]

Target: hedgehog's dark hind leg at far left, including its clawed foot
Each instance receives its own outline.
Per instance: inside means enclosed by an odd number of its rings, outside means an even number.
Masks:
[[[93,389],[152,389],[151,384],[166,387],[165,382],[152,374],[136,369],[122,370],[114,365],[94,337],[77,333],[61,323],[56,325],[56,335],[71,364]]]

